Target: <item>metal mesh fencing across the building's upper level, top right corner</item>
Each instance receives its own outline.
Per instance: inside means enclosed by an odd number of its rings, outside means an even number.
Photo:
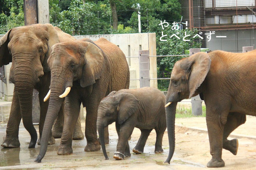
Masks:
[[[189,0],[191,28],[255,28],[256,0]]]

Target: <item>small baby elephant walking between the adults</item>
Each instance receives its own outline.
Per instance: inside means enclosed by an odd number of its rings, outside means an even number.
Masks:
[[[155,153],[162,153],[162,137],[166,129],[164,104],[164,94],[153,87],[112,91],[103,98],[98,107],[97,129],[105,158],[108,159],[104,144],[104,127],[114,121],[118,133],[117,151],[113,156],[115,159],[130,157],[128,138],[134,127],[141,131],[139,141],[132,150],[134,153],[143,153],[152,129],[157,133]]]

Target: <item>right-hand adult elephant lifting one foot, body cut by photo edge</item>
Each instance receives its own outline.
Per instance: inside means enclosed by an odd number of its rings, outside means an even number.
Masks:
[[[206,123],[212,159],[207,167],[224,167],[222,148],[236,155],[238,140],[229,134],[245,123],[246,114],[256,115],[256,50],[248,53],[214,51],[197,53],[177,61],[171,73],[166,102],[170,151],[174,152],[177,102],[200,94],[206,105]]]

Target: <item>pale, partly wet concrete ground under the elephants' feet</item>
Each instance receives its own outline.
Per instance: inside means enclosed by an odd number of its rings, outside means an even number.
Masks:
[[[238,127],[230,135],[230,139],[237,138],[239,140],[238,153],[234,156],[229,151],[223,149],[225,167],[221,168],[222,170],[253,170],[256,168],[255,122],[256,117],[247,116],[247,122]],[[82,123],[82,127],[85,127],[84,122]],[[35,125],[35,128],[38,132],[38,125]],[[5,130],[6,123],[1,123],[0,143],[5,138]],[[86,139],[73,141],[72,155],[59,156],[56,152],[60,144],[60,139],[56,139],[55,144],[48,146],[42,163],[35,163],[33,161],[39,153],[40,146],[36,144],[35,148],[28,148],[30,135],[21,123],[19,131],[21,146],[20,148],[12,149],[0,147],[0,169],[201,170],[207,169],[206,164],[211,159],[205,117],[176,118],[176,147],[170,165],[163,163],[168,156],[169,150],[167,131],[163,137],[163,153],[154,153],[156,133],[153,130],[146,143],[144,153],[140,155],[131,153],[130,158],[125,158],[122,161],[116,161],[113,158],[118,141],[114,123],[109,126],[109,133],[110,143],[106,145],[109,160],[104,159],[101,150],[84,152]],[[131,152],[132,148],[136,145],[139,135],[140,131],[135,128],[129,141]]]

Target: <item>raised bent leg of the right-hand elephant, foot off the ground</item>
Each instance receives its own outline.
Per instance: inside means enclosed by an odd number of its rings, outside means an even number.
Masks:
[[[233,130],[235,130],[241,124],[246,121],[246,115],[242,113],[229,113],[227,116],[227,121],[224,126],[223,133],[223,148],[229,150],[232,154],[236,155],[238,150],[238,140],[232,139],[227,140],[227,137]]]

